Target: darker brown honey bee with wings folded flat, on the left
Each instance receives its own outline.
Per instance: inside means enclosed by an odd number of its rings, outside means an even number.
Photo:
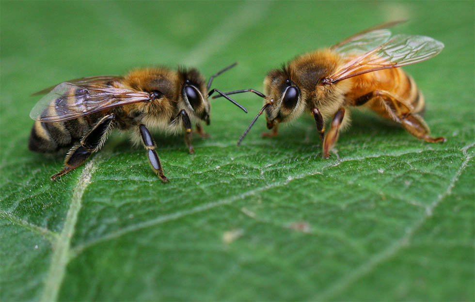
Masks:
[[[135,143],[143,142],[153,171],[168,182],[148,128],[168,133],[185,130],[188,150],[194,153],[191,125],[196,125],[199,135],[207,136],[201,122],[209,125],[210,95],[221,94],[247,113],[220,90],[209,90],[215,77],[235,65],[211,76],[207,84],[194,68],[157,67],[133,70],[123,77],[73,79],[47,88],[33,94],[47,93],[30,113],[35,122],[28,147],[43,153],[70,148],[64,168],[51,176],[55,180],[99,151],[111,129],[130,130]]]

